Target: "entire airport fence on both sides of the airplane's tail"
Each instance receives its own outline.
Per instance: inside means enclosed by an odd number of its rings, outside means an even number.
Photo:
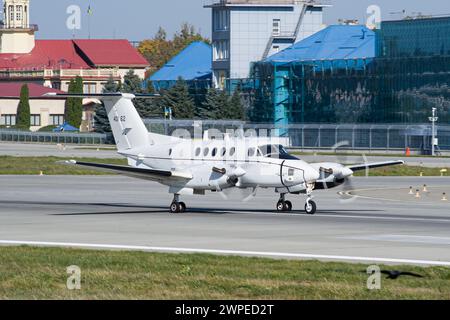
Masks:
[[[340,145],[347,150],[398,151],[410,148],[421,154],[431,152],[431,126],[417,125],[352,125],[352,124],[291,124],[279,128],[274,124],[255,124],[243,121],[220,120],[164,120],[145,119],[150,132],[173,135],[183,129],[192,137],[203,136],[205,131],[216,129],[220,132],[234,130],[246,136],[276,136],[286,138],[287,144],[296,149],[329,150]],[[450,126],[436,126],[438,152],[450,151]],[[25,132],[1,129],[0,141],[24,143],[63,144],[114,144],[111,134],[66,133],[66,132]]]

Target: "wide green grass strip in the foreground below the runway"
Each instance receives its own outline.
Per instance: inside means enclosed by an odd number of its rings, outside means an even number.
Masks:
[[[443,267],[395,267],[424,278],[383,276],[371,291],[362,264],[34,247],[0,256],[0,299],[450,299]],[[81,290],[66,288],[71,265]]]

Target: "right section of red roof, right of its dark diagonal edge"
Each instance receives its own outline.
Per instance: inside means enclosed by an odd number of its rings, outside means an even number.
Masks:
[[[74,40],[96,66],[148,66],[148,61],[128,40]]]

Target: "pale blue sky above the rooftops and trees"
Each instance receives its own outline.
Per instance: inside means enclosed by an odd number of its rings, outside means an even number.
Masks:
[[[210,36],[210,10],[203,4],[208,0],[31,0],[31,20],[39,25],[38,38],[67,39],[72,31],[67,29],[67,7],[75,4],[82,8],[82,28],[76,37],[88,36],[88,14],[90,4],[91,35],[93,38],[126,38],[142,40],[152,37],[159,26],[169,34],[177,30],[182,22],[189,22]],[[333,8],[325,11],[325,23],[336,23],[339,18],[365,21],[366,8],[371,4],[381,7],[384,20],[398,18],[391,12],[406,9],[407,12],[423,14],[450,14],[448,0],[331,0]]]

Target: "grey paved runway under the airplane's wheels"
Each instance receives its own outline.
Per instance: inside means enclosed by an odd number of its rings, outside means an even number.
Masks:
[[[151,182],[1,176],[0,244],[450,265],[449,178],[354,178],[353,189],[316,192],[315,216],[277,213],[269,190],[248,202],[183,197],[189,212],[173,215],[167,188]],[[288,198],[303,208],[304,197]]]

